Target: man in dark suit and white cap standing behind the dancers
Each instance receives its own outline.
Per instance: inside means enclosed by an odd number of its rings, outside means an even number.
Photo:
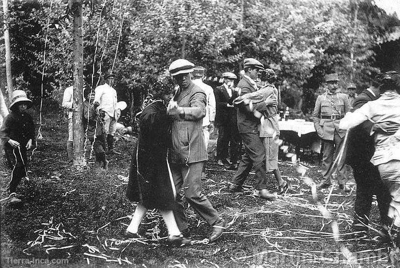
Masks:
[[[237,131],[237,111],[232,102],[237,97],[237,92],[233,90],[237,77],[229,72],[223,73],[222,77],[224,84],[214,90],[217,110],[215,124],[218,126],[217,160],[220,166],[231,165],[231,168],[236,169],[240,136]],[[230,163],[227,160],[228,146]]]

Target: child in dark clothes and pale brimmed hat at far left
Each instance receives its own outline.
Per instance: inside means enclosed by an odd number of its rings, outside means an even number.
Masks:
[[[9,186],[9,204],[21,202],[17,195],[17,186],[21,179],[27,177],[28,158],[27,150],[35,142],[35,126],[27,109],[32,107],[32,101],[27,98],[22,90],[15,90],[10,105],[11,113],[6,117],[0,130],[0,137],[4,144],[7,162],[12,168]]]

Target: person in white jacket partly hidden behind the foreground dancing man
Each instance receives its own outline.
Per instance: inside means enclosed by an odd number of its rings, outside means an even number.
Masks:
[[[209,85],[203,82],[203,77],[205,73],[205,69],[202,66],[194,66],[193,69],[193,83],[200,87],[207,96],[207,105],[206,105],[206,116],[203,118],[203,133],[204,133],[204,141],[206,143],[206,148],[208,148],[208,144],[210,142],[210,133],[214,130],[214,120],[215,120],[215,96],[214,90]]]

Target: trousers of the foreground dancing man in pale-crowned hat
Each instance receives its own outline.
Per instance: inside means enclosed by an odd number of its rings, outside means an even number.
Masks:
[[[172,178],[174,179],[176,188],[176,202],[178,203],[178,209],[174,211],[174,216],[180,231],[188,228],[181,194],[182,187],[187,202],[209,225],[213,225],[219,217],[218,212],[203,193],[203,165],[203,161],[190,164],[170,164]]]

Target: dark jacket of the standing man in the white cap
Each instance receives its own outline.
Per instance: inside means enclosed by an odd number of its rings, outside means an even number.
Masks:
[[[224,125],[229,122],[236,121],[236,108],[227,107],[227,103],[232,105],[232,102],[237,97],[237,92],[232,91],[232,97],[229,97],[228,92],[224,85],[216,87],[214,89],[215,103],[216,103],[216,114],[215,114],[215,124]]]

